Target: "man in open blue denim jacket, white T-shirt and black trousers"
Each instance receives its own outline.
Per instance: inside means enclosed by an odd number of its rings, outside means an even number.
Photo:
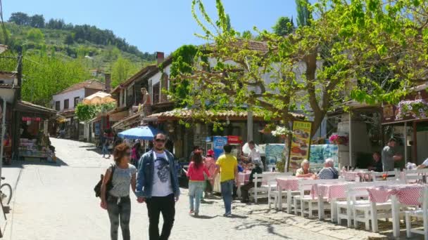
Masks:
[[[166,240],[170,236],[175,218],[175,201],[180,196],[174,156],[165,150],[166,137],[155,136],[153,150],[146,152],[139,161],[135,194],[139,203],[146,202],[149,213],[149,239]],[[163,216],[159,235],[159,215]]]

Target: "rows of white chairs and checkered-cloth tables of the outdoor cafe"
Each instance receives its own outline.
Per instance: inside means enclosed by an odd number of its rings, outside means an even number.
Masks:
[[[245,173],[242,173],[245,180]],[[367,231],[378,232],[378,220],[391,220],[394,237],[400,236],[400,221],[405,220],[407,236],[424,234],[428,239],[428,169],[375,173],[367,169],[341,171],[336,180],[296,178],[290,173],[254,175],[250,196],[267,198],[277,211],[331,221],[347,227],[363,224]],[[241,178],[241,176],[240,176]],[[249,178],[249,173],[248,173]],[[242,181],[244,183],[244,181]],[[422,220],[423,231],[412,228],[410,218]]]

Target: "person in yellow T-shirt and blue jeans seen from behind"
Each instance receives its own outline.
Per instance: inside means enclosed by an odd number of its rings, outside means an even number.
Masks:
[[[231,155],[232,146],[225,145],[223,147],[225,154],[220,156],[215,163],[217,170],[214,175],[217,175],[220,171],[220,185],[222,190],[222,198],[225,202],[225,217],[232,215],[232,191],[233,185],[236,181],[238,185],[238,160],[235,156]]]

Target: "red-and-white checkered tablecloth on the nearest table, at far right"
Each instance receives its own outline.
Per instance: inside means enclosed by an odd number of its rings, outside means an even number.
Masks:
[[[382,187],[369,187],[369,199],[375,203],[388,201],[391,195],[396,195],[401,204],[420,205],[420,197],[424,185],[391,185]]]

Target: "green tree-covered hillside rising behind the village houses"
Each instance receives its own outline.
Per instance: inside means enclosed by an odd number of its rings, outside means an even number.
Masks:
[[[91,69],[111,73],[112,87],[155,60],[111,30],[90,25],[46,21],[43,15],[13,13],[0,31],[0,44],[9,46],[8,56],[23,51],[23,100],[46,107],[52,95],[80,81],[93,79]],[[1,71],[16,71],[17,60],[1,59]],[[103,74],[95,78],[104,81]]]

